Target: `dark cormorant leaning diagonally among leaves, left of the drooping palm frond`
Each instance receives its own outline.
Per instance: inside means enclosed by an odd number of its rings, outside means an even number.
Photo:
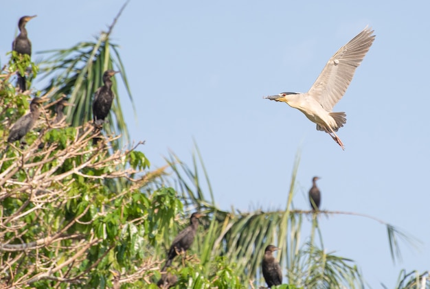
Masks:
[[[179,233],[176,238],[174,238],[172,242],[172,246],[167,253],[167,261],[164,264],[164,271],[168,266],[172,264],[172,260],[174,257],[178,255],[178,253],[182,253],[190,248],[192,242],[194,241],[194,236],[196,235],[197,227],[199,227],[199,218],[203,217],[202,213],[192,213],[190,217],[190,225],[183,229],[181,233]]]

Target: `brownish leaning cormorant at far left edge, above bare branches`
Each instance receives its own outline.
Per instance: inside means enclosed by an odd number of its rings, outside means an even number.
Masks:
[[[14,123],[12,128],[10,128],[8,143],[22,139],[25,135],[27,135],[27,132],[33,128],[39,115],[41,115],[41,111],[39,111],[39,104],[42,102],[44,102],[44,100],[41,100],[39,97],[33,98],[32,102],[30,103],[30,113],[27,113],[26,115],[23,115],[21,118],[19,118]]]

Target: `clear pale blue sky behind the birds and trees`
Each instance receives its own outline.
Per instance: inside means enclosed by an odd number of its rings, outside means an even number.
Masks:
[[[38,15],[27,25],[34,52],[69,48],[106,30],[123,3],[4,1],[1,62],[20,16]],[[308,209],[321,176],[322,209],[374,216],[422,241],[419,251],[401,246],[393,264],[383,225],[320,218],[327,251],[354,259],[373,288],[393,288],[402,268],[430,269],[429,3],[132,0],[112,34],[137,108],[138,124],[120,84],[131,137],[146,140],[152,168],[169,149],[191,164],[195,139],[218,205],[245,211],[284,208],[301,150],[295,207]],[[334,109],[348,119],[342,151],[302,113],[262,97],[308,91],[366,25],[376,40]]]

